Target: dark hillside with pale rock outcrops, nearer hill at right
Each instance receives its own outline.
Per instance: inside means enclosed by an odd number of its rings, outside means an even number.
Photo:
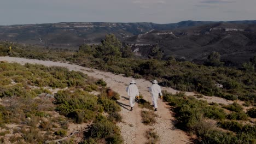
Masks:
[[[256,55],[256,25],[241,23],[218,22],[171,31],[154,30],[126,38],[125,42],[145,57],[151,47],[158,45],[166,57],[203,62],[216,51],[223,61],[241,64]]]

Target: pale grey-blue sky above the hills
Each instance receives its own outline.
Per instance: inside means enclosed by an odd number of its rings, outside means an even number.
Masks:
[[[256,20],[256,0],[0,0],[0,25]]]

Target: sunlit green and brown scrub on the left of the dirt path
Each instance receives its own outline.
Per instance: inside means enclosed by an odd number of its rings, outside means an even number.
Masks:
[[[102,80],[66,68],[5,62],[0,63],[0,77],[2,143],[60,139],[68,136],[71,122],[91,124],[82,143],[122,143],[120,129],[115,125],[121,121],[120,107],[113,100],[118,94],[108,98]],[[49,88],[60,91],[53,95]],[[101,94],[96,96],[92,91]]]

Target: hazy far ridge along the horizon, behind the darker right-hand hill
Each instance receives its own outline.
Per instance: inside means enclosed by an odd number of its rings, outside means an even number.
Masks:
[[[178,23],[106,23],[106,22],[60,22],[36,25],[0,26],[0,40],[17,41],[45,46],[77,46],[83,43],[99,43],[104,35],[113,33],[120,39],[146,33],[152,29],[166,31],[176,28],[201,26],[208,21],[182,21]],[[232,23],[256,23],[234,21]]]

